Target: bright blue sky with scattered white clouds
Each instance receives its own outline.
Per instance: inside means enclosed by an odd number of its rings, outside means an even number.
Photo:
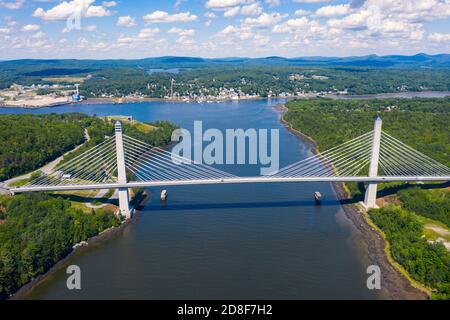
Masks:
[[[0,59],[450,53],[450,0],[0,0]]]

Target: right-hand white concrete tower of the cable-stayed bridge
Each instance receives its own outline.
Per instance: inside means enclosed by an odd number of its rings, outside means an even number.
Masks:
[[[380,117],[375,120],[372,157],[370,159],[369,178],[376,178],[378,176],[378,163],[380,161],[380,146],[381,146],[381,128],[383,121]],[[366,209],[373,209],[377,206],[377,188],[376,183],[369,183],[364,197],[364,207]]]

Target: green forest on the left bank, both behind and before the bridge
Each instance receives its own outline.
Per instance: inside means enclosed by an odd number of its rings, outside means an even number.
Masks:
[[[124,122],[124,132],[164,147],[177,128],[166,121],[145,125],[151,130]],[[63,162],[68,161],[113,134],[114,120],[77,113],[0,116],[1,172],[7,178],[35,170],[84,142],[64,157]],[[87,214],[52,194],[0,196],[0,300],[48,271],[74,244],[119,224],[113,212],[98,209]]]

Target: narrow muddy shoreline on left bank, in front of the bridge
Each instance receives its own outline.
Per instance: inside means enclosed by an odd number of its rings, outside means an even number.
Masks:
[[[16,293],[14,293],[9,298],[9,300],[22,300],[22,299],[26,298],[26,296],[31,291],[33,291],[33,289],[36,288],[40,283],[42,283],[43,281],[48,279],[50,276],[52,276],[53,274],[55,274],[57,271],[61,270],[62,268],[67,267],[69,265],[70,259],[75,254],[89,249],[90,246],[101,244],[104,241],[107,241],[113,237],[120,235],[130,224],[132,224],[136,221],[136,218],[139,217],[142,209],[146,206],[146,204],[148,203],[148,201],[150,201],[150,199],[151,199],[151,193],[149,191],[144,191],[144,197],[139,202],[139,205],[136,207],[136,211],[133,214],[132,219],[126,220],[120,226],[105,230],[102,233],[100,233],[99,235],[86,240],[86,242],[88,243],[87,246],[73,249],[65,258],[58,261],[46,273],[38,276],[37,278],[33,279],[31,282],[29,282],[26,285],[24,285],[23,287],[21,287]]]

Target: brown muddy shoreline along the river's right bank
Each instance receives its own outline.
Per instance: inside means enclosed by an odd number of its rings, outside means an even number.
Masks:
[[[311,147],[314,154],[319,152],[317,143],[309,136],[293,128],[292,125],[285,120],[288,108],[286,105],[280,105],[277,110],[281,112],[280,122],[293,134],[304,139]],[[358,234],[363,239],[363,245],[367,253],[367,257],[371,265],[377,265],[381,269],[382,287],[392,300],[426,300],[429,295],[424,291],[414,287],[390,261],[386,253],[386,240],[374,229],[367,219],[369,217],[358,204],[348,203],[348,191],[343,183],[332,183],[333,189],[342,209],[348,220],[351,221]]]

